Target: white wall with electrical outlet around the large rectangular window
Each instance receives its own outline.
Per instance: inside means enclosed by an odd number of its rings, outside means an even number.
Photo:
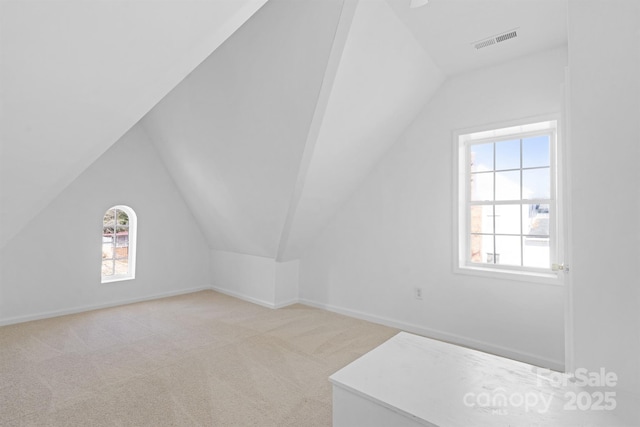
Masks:
[[[566,56],[447,80],[302,256],[302,301],[561,367],[562,287],[453,274],[451,156],[455,129],[560,112]]]

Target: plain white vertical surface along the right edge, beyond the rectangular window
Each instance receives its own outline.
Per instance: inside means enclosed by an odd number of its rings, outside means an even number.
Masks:
[[[640,3],[573,0],[569,17],[574,365],[638,393]]]

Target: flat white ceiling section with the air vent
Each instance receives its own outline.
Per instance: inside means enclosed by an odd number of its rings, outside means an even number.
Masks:
[[[567,0],[386,0],[447,75],[567,43]],[[517,29],[518,37],[476,50],[473,42]]]

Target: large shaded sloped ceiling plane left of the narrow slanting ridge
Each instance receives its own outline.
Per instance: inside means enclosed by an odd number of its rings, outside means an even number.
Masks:
[[[142,121],[209,245],[275,258],[342,0],[270,0]]]

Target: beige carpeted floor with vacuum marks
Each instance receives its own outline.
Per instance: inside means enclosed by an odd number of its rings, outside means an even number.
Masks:
[[[398,331],[212,291],[0,327],[0,426],[330,426],[328,376]]]

